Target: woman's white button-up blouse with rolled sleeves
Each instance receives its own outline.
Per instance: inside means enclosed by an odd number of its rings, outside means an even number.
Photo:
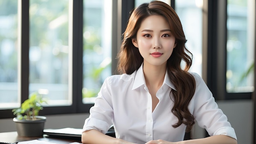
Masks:
[[[189,103],[189,111],[198,125],[206,129],[209,135],[228,135],[236,139],[234,129],[227,116],[218,109],[207,85],[198,74],[191,74],[195,77],[196,89]],[[163,85],[156,93],[159,103],[152,112],[152,99],[142,66],[130,75],[110,76],[104,81],[90,109],[83,131],[96,129],[105,134],[113,124],[117,138],[133,143],[144,144],[158,139],[182,141],[186,125],[172,127],[178,120],[171,112],[174,104],[170,97],[171,89],[175,90],[175,87],[166,73]]]

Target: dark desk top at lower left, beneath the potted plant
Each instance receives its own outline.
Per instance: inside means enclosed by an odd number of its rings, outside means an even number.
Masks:
[[[42,137],[21,137],[18,136],[18,133],[16,131],[0,133],[0,142],[22,142],[28,140],[42,140],[47,142],[53,142],[56,144],[69,144],[72,142],[81,143],[81,140],[77,139],[56,138],[49,137],[48,135],[43,135]]]

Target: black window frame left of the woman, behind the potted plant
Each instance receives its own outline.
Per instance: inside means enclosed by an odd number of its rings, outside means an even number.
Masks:
[[[19,20],[21,23],[21,41],[20,41],[20,59],[18,60],[20,70],[20,92],[18,96],[21,97],[21,103],[23,103],[29,96],[29,0],[22,0],[20,11],[18,15],[21,15]],[[116,55],[119,51],[121,44],[121,26],[126,24],[125,19],[121,24],[118,21],[121,17],[118,17],[118,13],[123,13],[122,16],[127,15],[127,10],[130,7],[134,7],[134,4],[129,4],[132,1],[126,0],[113,0],[112,7],[112,74],[115,74],[117,68]],[[134,3],[134,1],[133,1]],[[40,115],[54,115],[54,114],[71,114],[71,113],[89,113],[90,107],[93,103],[83,103],[82,100],[82,88],[83,88],[83,0],[72,0],[72,105],[70,106],[46,106],[40,111]],[[129,4],[130,7],[126,7]],[[122,9],[117,9],[117,7]],[[126,16],[128,17],[128,15]],[[120,31],[117,30],[120,27]],[[13,118],[12,109],[0,109],[0,119]]]

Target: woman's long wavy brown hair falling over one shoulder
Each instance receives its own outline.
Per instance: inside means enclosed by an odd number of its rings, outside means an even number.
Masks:
[[[173,49],[171,57],[167,60],[167,72],[171,82],[177,91],[172,90],[174,106],[171,109],[178,118],[178,122],[173,127],[186,124],[186,131],[191,131],[194,117],[188,109],[189,102],[195,93],[195,79],[188,72],[192,65],[192,53],[185,47],[186,38],[182,29],[182,24],[175,11],[166,3],[152,1],[141,4],[137,9],[131,11],[130,18],[123,36],[121,49],[117,58],[118,70],[120,73],[132,74],[138,70],[143,62],[138,48],[132,44],[132,39],[136,38],[141,22],[150,15],[161,15],[168,22],[172,34],[175,36],[176,47]],[[184,70],[181,68],[181,61],[185,62]],[[171,94],[170,94],[171,96]]]

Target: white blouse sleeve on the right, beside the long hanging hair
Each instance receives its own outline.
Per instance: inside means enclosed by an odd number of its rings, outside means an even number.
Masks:
[[[190,106],[193,107],[193,116],[198,125],[207,130],[209,135],[227,135],[237,140],[235,130],[227,120],[227,116],[218,108],[215,99],[203,79],[193,74],[196,89]]]

